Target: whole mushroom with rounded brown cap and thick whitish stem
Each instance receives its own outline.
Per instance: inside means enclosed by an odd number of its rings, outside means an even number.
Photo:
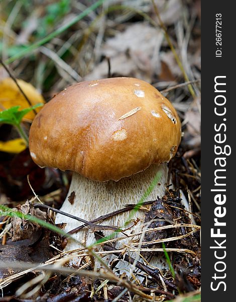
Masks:
[[[61,210],[87,221],[138,203],[158,172],[148,199],[162,197],[166,163],[175,156],[180,139],[181,123],[171,103],[150,84],[124,77],[85,81],[60,92],[37,114],[29,137],[37,165],[73,171]],[[133,217],[125,212],[105,224],[123,228],[129,220],[130,234],[144,218],[139,209]],[[61,214],[55,222],[65,222],[66,232],[81,224]],[[95,242],[86,227],[73,236],[86,246]],[[116,244],[120,246],[122,242]],[[76,248],[69,240],[66,250]]]

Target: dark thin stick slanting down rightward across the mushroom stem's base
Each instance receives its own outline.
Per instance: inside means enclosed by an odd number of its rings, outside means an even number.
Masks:
[[[96,233],[95,234],[95,239],[96,240],[99,240],[101,239],[102,237],[100,236],[100,234]],[[103,250],[105,251],[117,251],[117,252],[112,252],[113,255],[115,256],[120,256],[121,252],[117,249],[115,249],[114,247],[110,246],[109,244],[104,244],[103,245]],[[124,258],[123,258],[126,262],[130,263],[130,264],[134,264],[135,260],[128,256],[128,255],[125,255]],[[137,267],[138,269],[142,270],[143,272],[147,273],[148,275],[152,276],[156,281],[160,282],[160,277],[159,277],[159,270],[158,269],[152,269],[152,268],[149,268],[148,266],[146,266],[145,264],[139,262],[139,261],[136,261],[136,265],[135,267]],[[171,289],[177,289],[177,287],[171,283],[169,280],[165,280],[165,283],[166,285],[168,285]]]

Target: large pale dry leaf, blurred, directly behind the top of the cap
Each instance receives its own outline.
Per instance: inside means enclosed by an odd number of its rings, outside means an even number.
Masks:
[[[153,73],[160,69],[159,49],[163,33],[146,22],[135,23],[107,39],[102,55],[110,58],[111,73],[141,78],[150,82]],[[107,77],[108,67],[104,60],[86,76],[86,80]]]

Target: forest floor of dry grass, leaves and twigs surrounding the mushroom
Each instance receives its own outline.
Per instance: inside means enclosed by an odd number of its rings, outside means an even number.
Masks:
[[[65,239],[48,228],[55,213],[47,206],[60,209],[71,172],[39,168],[30,157],[27,137],[19,136],[6,114],[0,116],[0,301],[200,301],[200,1],[3,0],[0,7],[2,112],[29,107],[28,101],[48,102],[77,82],[133,77],[152,84],[172,102],[183,132],[168,164],[166,194],[144,204],[146,217],[160,218],[162,211],[162,217],[168,212],[174,221],[170,229],[158,221],[151,224],[160,228],[151,240],[165,241],[150,248],[162,249],[155,253],[169,269],[160,271],[148,263],[136,267],[145,276],[140,282],[114,274],[111,267],[95,271],[89,250],[84,269],[62,265],[68,256],[61,252]],[[26,136],[34,116],[31,111],[20,120]],[[120,261],[119,253],[113,253]]]

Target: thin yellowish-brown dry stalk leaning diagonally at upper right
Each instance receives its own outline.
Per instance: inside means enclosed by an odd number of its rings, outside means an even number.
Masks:
[[[176,50],[175,50],[175,48],[174,48],[174,45],[172,44],[172,42],[171,42],[171,40],[170,40],[170,37],[169,37],[169,35],[168,35],[168,33],[167,33],[166,26],[165,26],[165,24],[164,24],[164,23],[162,22],[162,20],[161,20],[161,16],[160,16],[160,14],[159,14],[159,10],[158,10],[158,8],[157,8],[157,6],[156,6],[154,0],[152,0],[152,4],[153,4],[153,7],[154,7],[155,14],[157,15],[159,24],[160,24],[162,30],[164,31],[164,34],[165,34],[167,43],[169,44],[170,49],[171,49],[171,51],[172,51],[173,54],[174,54],[175,60],[176,60],[177,64],[179,65],[180,70],[182,71],[182,73],[183,73],[183,75],[184,75],[184,79],[185,79],[186,82],[189,82],[188,75],[187,75],[187,73],[185,72],[184,67],[183,67],[183,64],[181,63],[181,61],[180,61],[180,59],[179,59],[179,57],[178,57],[178,55],[177,55],[177,53],[176,53]],[[189,89],[189,91],[190,91],[192,97],[195,98],[195,97],[196,97],[196,94],[195,94],[195,92],[194,92],[194,90],[193,90],[193,88],[192,88],[191,85],[188,85],[188,89]]]

